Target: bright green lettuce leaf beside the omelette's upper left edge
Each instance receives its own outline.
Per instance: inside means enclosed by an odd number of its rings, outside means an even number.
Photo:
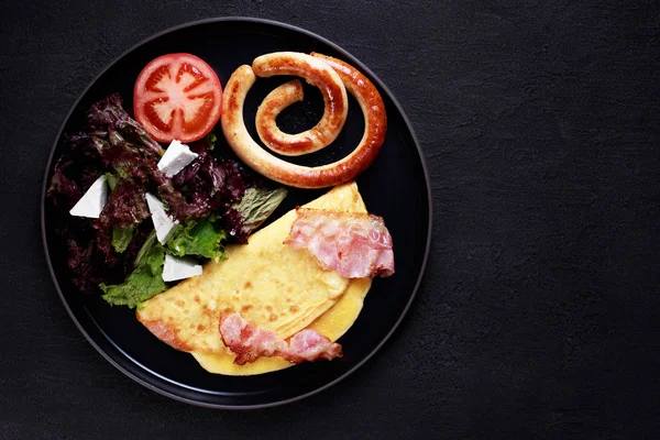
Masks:
[[[167,288],[163,280],[165,249],[156,240],[153,232],[144,242],[135,258],[135,270],[122,284],[99,287],[103,290],[103,299],[112,306],[140,307],[141,302],[158,295]]]

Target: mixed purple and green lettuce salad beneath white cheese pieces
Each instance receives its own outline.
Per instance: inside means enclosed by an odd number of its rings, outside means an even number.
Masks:
[[[74,285],[85,293],[100,288],[111,305],[132,308],[165,290],[165,253],[200,263],[224,258],[224,246],[246,243],[286,196],[235,160],[211,155],[218,143],[213,132],[189,143],[197,158],[167,177],[157,167],[163,147],[117,94],[92,105],[86,130],[65,141],[46,194],[58,213],[55,230],[67,249]],[[68,216],[101,175],[109,195],[99,218]],[[148,219],[147,193],[179,222],[165,244],[157,242]]]

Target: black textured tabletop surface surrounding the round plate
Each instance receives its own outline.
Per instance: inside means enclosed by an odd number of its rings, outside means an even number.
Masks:
[[[552,3],[552,4],[546,4]],[[2,1],[0,438],[644,438],[660,428],[660,2]],[[186,406],[82,338],[38,234],[50,146],[140,40],[252,15],[326,36],[428,161],[417,301],[356,374],[280,408]]]

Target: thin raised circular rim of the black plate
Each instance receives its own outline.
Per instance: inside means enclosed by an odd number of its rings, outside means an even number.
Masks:
[[[114,359],[112,359],[112,356],[110,356],[110,354],[106,353],[105,350],[102,350],[97,343],[96,341],[89,336],[89,333],[82,328],[82,326],[80,324],[80,322],[78,321],[78,319],[76,318],[76,316],[74,315],[74,312],[72,311],[68,302],[66,301],[64,294],[62,292],[62,288],[59,287],[59,284],[57,283],[57,277],[55,274],[55,271],[53,268],[53,262],[51,261],[51,254],[50,254],[50,250],[48,250],[48,243],[47,243],[47,239],[46,239],[46,222],[45,222],[45,206],[46,206],[46,191],[48,188],[48,175],[51,172],[51,167],[53,165],[53,158],[55,156],[55,151],[57,148],[57,144],[59,142],[59,139],[62,138],[62,133],[64,132],[64,128],[66,125],[66,123],[68,122],[68,120],[70,119],[72,114],[74,113],[75,109],[78,107],[80,100],[82,100],[82,98],[87,95],[87,92],[89,91],[89,89],[98,81],[98,79],[106,74],[106,72],[108,72],[114,64],[117,64],[119,61],[121,61],[122,58],[124,58],[125,56],[128,56],[130,53],[132,53],[133,51],[138,50],[139,47],[143,46],[144,44],[156,40],[161,36],[164,36],[168,33],[182,30],[182,29],[186,29],[186,28],[194,28],[197,25],[201,25],[201,24],[208,24],[208,23],[218,23],[218,22],[245,22],[245,23],[256,23],[256,24],[266,24],[270,26],[275,26],[275,28],[283,28],[286,29],[288,31],[294,31],[294,32],[299,32],[302,33],[311,38],[315,38],[323,44],[327,44],[328,46],[332,47],[334,51],[339,52],[342,54],[342,56],[346,56],[348,58],[350,58],[350,61],[355,64],[362,72],[365,72],[366,74],[369,74],[369,76],[374,80],[374,82],[377,84],[377,86],[385,91],[385,94],[387,94],[387,96],[389,97],[389,99],[392,99],[392,102],[394,103],[395,108],[397,109],[397,111],[399,112],[399,114],[402,116],[402,119],[404,120],[404,123],[406,124],[407,129],[410,132],[410,135],[413,138],[413,142],[415,144],[415,147],[417,148],[417,153],[419,155],[419,160],[421,163],[421,167],[424,170],[424,180],[426,184],[426,188],[427,188],[427,206],[428,206],[428,228],[427,228],[427,243],[426,243],[426,249],[425,249],[425,253],[424,253],[424,260],[421,262],[421,267],[419,271],[419,274],[417,276],[417,282],[415,283],[415,287],[413,288],[413,293],[410,295],[410,299],[408,300],[408,302],[406,304],[405,308],[403,309],[403,311],[400,312],[398,319],[396,320],[396,322],[392,326],[392,328],[389,329],[389,331],[387,332],[387,334],[385,334],[385,337],[381,340],[381,342],[378,342],[378,344],[370,352],[366,354],[366,356],[364,356],[364,359],[362,359],[360,362],[358,362],[353,367],[351,367],[350,370],[348,370],[345,373],[343,373],[341,376],[334,378],[333,381],[317,387],[310,392],[300,394],[298,396],[294,396],[294,397],[289,397],[289,398],[285,398],[285,399],[280,399],[280,400],[276,400],[276,402],[271,402],[271,403],[266,403],[266,404],[256,404],[256,405],[224,405],[224,404],[212,404],[212,403],[206,403],[206,402],[199,402],[199,400],[195,400],[193,398],[187,398],[184,396],[179,396],[173,393],[167,392],[166,389],[163,389],[154,384],[148,383],[147,381],[139,377],[138,375],[133,374],[131,371],[129,371],[128,369],[125,369],[124,366],[122,366],[119,362],[117,362]],[[408,119],[407,114],[405,113],[404,109],[402,108],[400,103],[398,102],[398,100],[396,99],[396,97],[394,96],[394,94],[392,94],[392,91],[389,90],[389,88],[381,80],[381,78],[375,75],[369,67],[366,67],[365,65],[363,65],[362,62],[360,62],[355,56],[351,55],[351,53],[346,50],[344,50],[343,47],[339,46],[338,44],[331,42],[330,40],[318,35],[315,32],[308,31],[306,29],[299,28],[297,25],[293,25],[293,24],[288,24],[288,23],[284,23],[284,22],[279,22],[279,21],[275,21],[275,20],[268,20],[268,19],[262,19],[262,18],[255,18],[255,16],[240,16],[240,15],[235,15],[235,16],[216,16],[216,18],[208,18],[208,19],[201,19],[201,20],[195,20],[195,21],[189,21],[186,23],[182,23],[182,24],[177,24],[175,26],[170,26],[161,32],[157,32],[155,34],[152,34],[150,36],[147,36],[146,38],[143,38],[141,41],[139,41],[138,43],[135,43],[134,45],[132,45],[131,47],[129,47],[128,50],[123,51],[121,54],[119,54],[118,56],[116,56],[110,63],[108,63],[99,73],[98,75],[96,75],[91,81],[78,94],[78,98],[75,100],[75,102],[72,105],[69,111],[67,112],[67,114],[65,116],[59,130],[57,131],[57,135],[55,136],[55,140],[53,142],[53,145],[51,147],[51,154],[48,155],[48,161],[46,163],[45,166],[45,172],[43,175],[43,183],[42,183],[42,194],[41,194],[41,204],[40,204],[40,218],[41,218],[41,234],[42,234],[42,243],[43,243],[43,248],[44,248],[44,254],[46,257],[46,264],[48,266],[48,272],[51,273],[51,278],[53,280],[53,284],[55,285],[55,289],[57,290],[57,294],[59,295],[59,299],[62,300],[62,304],[64,305],[69,318],[74,321],[74,323],[76,324],[76,327],[78,328],[78,330],[82,333],[82,336],[85,337],[85,339],[87,339],[87,341],[96,349],[96,351],[98,351],[105,359],[106,361],[108,361],[111,365],[113,365],[117,370],[119,370],[121,373],[123,373],[124,375],[127,375],[128,377],[130,377],[131,380],[135,381],[138,384],[144,386],[147,389],[151,389],[160,395],[166,396],[168,398],[172,398],[174,400],[177,402],[182,402],[182,403],[186,403],[189,405],[194,405],[194,406],[199,406],[199,407],[206,407],[206,408],[215,408],[215,409],[231,409],[231,410],[249,410],[249,409],[260,409],[260,408],[271,408],[271,407],[276,407],[276,406],[282,406],[282,405],[286,405],[286,404],[292,404],[294,402],[298,402],[301,399],[305,399],[307,397],[314,396],[318,393],[321,393],[328,388],[330,388],[331,386],[338,384],[339,382],[343,381],[344,378],[346,378],[348,376],[350,376],[352,373],[354,373],[355,371],[358,371],[362,365],[364,365],[369,360],[371,360],[382,348],[383,345],[389,340],[389,338],[392,338],[392,336],[394,334],[394,332],[398,329],[398,327],[400,326],[402,321],[404,320],[404,318],[408,315],[408,310],[410,309],[410,306],[413,305],[413,301],[415,300],[415,298],[417,297],[417,293],[419,290],[419,286],[421,284],[421,280],[424,278],[424,274],[426,272],[426,267],[427,267],[427,263],[428,263],[428,258],[429,258],[429,252],[430,252],[430,246],[431,246],[431,234],[432,234],[432,218],[433,218],[433,205],[432,205],[432,198],[431,198],[431,185],[430,185],[430,179],[429,179],[429,172],[428,172],[428,166],[426,163],[426,158],[424,156],[424,152],[421,150],[420,143],[419,143],[419,139],[417,138],[417,134],[415,133],[415,130],[413,129],[413,124],[410,123],[410,120]],[[125,354],[124,354],[125,355]],[[153,373],[152,373],[153,374]]]

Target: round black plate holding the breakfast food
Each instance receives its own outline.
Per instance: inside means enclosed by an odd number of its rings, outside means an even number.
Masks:
[[[110,92],[119,91],[125,108],[130,109],[135,78],[156,56],[173,52],[198,55],[216,69],[224,85],[238,66],[275,51],[316,51],[339,57],[362,70],[380,88],[387,109],[387,139],[375,163],[358,178],[358,185],[369,210],[385,218],[394,238],[396,274],[374,280],[360,318],[340,340],[344,350],[342,359],[258,376],[213,375],[204,371],[190,354],[176,351],[153,337],[135,319],[133,310],[111,308],[99,296],[84,297],[72,287],[65,252],[52,231],[55,212],[45,204],[45,188],[53,172],[53,157],[58,157],[65,147],[62,133],[81,127],[89,106]],[[257,80],[246,102],[246,121],[254,121],[256,103],[285,79]],[[283,114],[285,129],[308,128],[320,116],[320,94],[307,91],[310,97],[306,99],[307,106],[299,105],[288,116]],[[348,154],[350,148],[344,150],[342,145],[356,145],[363,127],[360,108],[351,100],[340,139],[301,163],[327,163]],[[254,135],[254,127],[250,129]],[[278,212],[322,193],[292,189]],[[44,195],[42,231],[46,258],[64,306],[82,334],[110,363],[140,384],[183,402],[217,408],[256,408],[293,402],[324,389],[355,371],[383,345],[408,310],[421,279],[430,242],[428,174],[410,123],[389,90],[358,59],[331,42],[301,29],[265,20],[228,18],[189,23],[153,36],[121,55],[92,81],[66,118],[51,153]]]

